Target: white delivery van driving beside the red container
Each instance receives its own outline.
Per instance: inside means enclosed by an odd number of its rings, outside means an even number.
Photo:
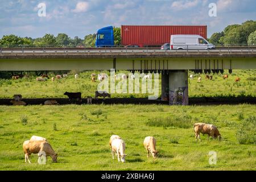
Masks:
[[[210,44],[200,35],[171,35],[170,49],[213,49]]]

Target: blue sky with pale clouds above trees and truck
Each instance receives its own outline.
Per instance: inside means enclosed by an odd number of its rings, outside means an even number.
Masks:
[[[207,25],[209,38],[229,24],[256,20],[255,7],[254,0],[0,0],[0,38],[65,33],[83,39],[111,25]]]

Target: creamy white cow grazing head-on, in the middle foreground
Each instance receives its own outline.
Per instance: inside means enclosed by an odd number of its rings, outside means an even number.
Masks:
[[[122,139],[113,139],[112,144],[112,158],[114,159],[114,154],[117,154],[118,162],[125,162],[125,142]],[[120,159],[119,159],[120,158]]]

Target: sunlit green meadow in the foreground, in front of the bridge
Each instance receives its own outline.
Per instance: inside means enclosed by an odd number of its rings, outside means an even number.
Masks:
[[[246,104],[0,106],[0,170],[256,170],[255,111]],[[195,142],[195,122],[216,125],[222,140],[201,135]],[[238,142],[238,130],[249,144]],[[125,140],[126,163],[110,155],[112,134]],[[32,164],[24,162],[22,143],[32,135],[48,139],[57,163],[48,157],[39,165],[34,154]],[[156,138],[157,159],[146,157],[149,135]],[[217,152],[216,165],[208,162],[210,151]]]

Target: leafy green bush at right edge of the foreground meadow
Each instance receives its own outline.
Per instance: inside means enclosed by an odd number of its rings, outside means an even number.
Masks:
[[[237,140],[240,144],[256,144],[256,116],[242,121],[237,130]]]

